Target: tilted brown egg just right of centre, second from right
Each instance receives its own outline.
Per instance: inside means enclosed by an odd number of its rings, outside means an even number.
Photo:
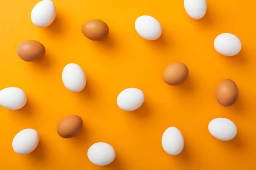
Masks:
[[[163,72],[163,80],[168,85],[180,85],[189,75],[189,69],[181,62],[168,65]]]

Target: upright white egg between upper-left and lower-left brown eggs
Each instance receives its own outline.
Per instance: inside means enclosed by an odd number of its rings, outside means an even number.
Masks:
[[[79,92],[86,85],[86,76],[79,65],[70,63],[62,71],[62,81],[68,90]]]

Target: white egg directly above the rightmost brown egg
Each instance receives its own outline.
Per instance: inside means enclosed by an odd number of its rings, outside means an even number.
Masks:
[[[214,40],[215,50],[224,56],[234,56],[242,48],[241,41],[238,37],[230,33],[218,35]]]

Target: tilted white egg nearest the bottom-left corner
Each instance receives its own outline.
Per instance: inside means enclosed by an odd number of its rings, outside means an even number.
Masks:
[[[12,140],[13,150],[20,155],[26,155],[38,146],[39,136],[34,129],[24,129],[15,135]]]

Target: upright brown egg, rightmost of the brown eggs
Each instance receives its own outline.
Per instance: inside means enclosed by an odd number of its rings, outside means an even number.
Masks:
[[[233,105],[238,98],[238,88],[231,79],[222,80],[216,88],[216,99],[223,106]]]

